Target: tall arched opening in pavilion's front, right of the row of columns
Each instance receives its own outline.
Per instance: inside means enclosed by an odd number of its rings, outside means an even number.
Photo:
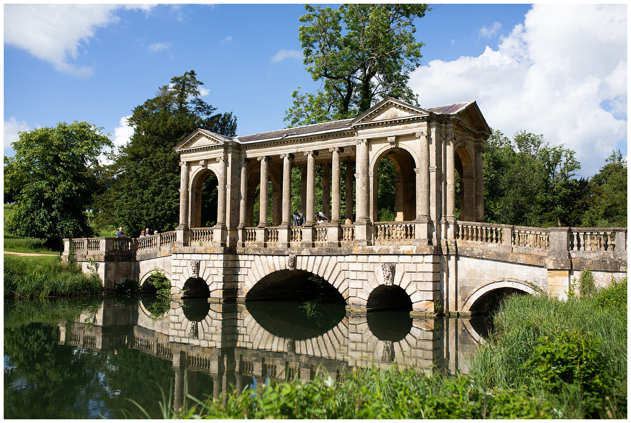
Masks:
[[[373,222],[409,222],[416,218],[414,158],[403,148],[391,148],[377,158],[372,189]]]

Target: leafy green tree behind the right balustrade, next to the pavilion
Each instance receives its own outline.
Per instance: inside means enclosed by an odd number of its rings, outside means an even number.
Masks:
[[[483,153],[485,220],[527,226],[578,225],[586,182],[574,151],[543,135],[519,131],[512,140],[493,131]]]

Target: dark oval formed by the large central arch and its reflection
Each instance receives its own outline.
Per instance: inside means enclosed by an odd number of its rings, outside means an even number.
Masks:
[[[333,285],[304,270],[279,270],[245,296],[245,307],[265,330],[282,338],[319,337],[346,316],[346,301]]]

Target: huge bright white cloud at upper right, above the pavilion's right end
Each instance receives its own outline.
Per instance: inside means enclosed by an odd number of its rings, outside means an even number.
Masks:
[[[590,176],[627,140],[626,16],[623,4],[535,4],[497,51],[431,61],[410,85],[424,107],[476,100],[493,129],[564,144]]]

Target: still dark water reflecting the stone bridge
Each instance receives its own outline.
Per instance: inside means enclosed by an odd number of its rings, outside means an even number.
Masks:
[[[400,364],[468,372],[480,319],[350,314],[319,302],[208,304],[144,298],[4,304],[4,417],[161,417],[186,393],[218,396],[269,379],[334,377]]]

